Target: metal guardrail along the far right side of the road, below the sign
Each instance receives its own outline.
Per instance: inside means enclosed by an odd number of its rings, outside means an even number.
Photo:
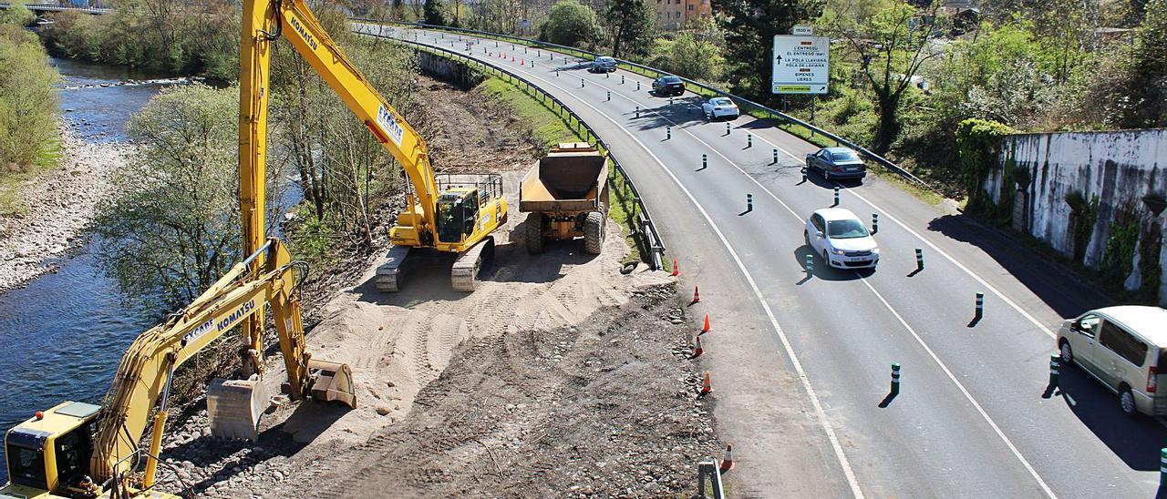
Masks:
[[[410,27],[414,27],[414,28],[424,28],[424,29],[435,29],[435,30],[443,30],[443,31],[462,33],[462,34],[475,35],[475,36],[480,36],[480,37],[503,40],[503,41],[508,41],[508,42],[511,42],[511,43],[519,43],[519,44],[524,44],[524,45],[529,45],[529,47],[557,49],[559,51],[567,52],[568,55],[576,55],[576,54],[579,54],[579,56],[576,56],[576,57],[584,57],[584,56],[587,56],[587,57],[600,57],[600,56],[603,55],[603,54],[598,54],[598,52],[593,52],[593,51],[588,51],[588,50],[578,49],[578,48],[574,48],[574,47],[567,47],[567,45],[560,45],[560,44],[557,44],[557,43],[543,42],[543,41],[539,41],[539,40],[523,38],[523,37],[519,37],[519,36],[511,36],[511,35],[504,35],[504,34],[490,33],[490,31],[478,31],[478,30],[474,30],[474,29],[452,28],[452,27],[448,27],[448,26],[425,24],[425,23],[420,23],[420,22],[390,21],[390,20],[370,19],[370,17],[352,17],[352,20],[364,21],[364,22],[375,22],[375,23],[382,23],[382,24],[401,24],[401,26],[410,26]],[[666,71],[658,70],[656,68],[647,66],[647,65],[643,65],[643,64],[638,64],[638,63],[634,63],[631,61],[626,61],[626,59],[620,59],[620,58],[616,59],[616,64],[620,65],[620,66],[623,66],[624,69],[628,69],[629,71],[638,72],[638,73],[642,73],[644,76],[649,76],[649,77],[652,77],[652,78],[657,78],[657,77],[665,76],[665,75],[668,75],[668,76],[676,76],[676,75],[669,73]],[[747,99],[745,97],[739,97],[739,96],[735,96],[733,93],[726,92],[725,90],[718,89],[715,86],[710,86],[710,85],[706,85],[704,83],[700,83],[700,82],[697,82],[697,80],[692,80],[692,79],[689,79],[689,78],[685,78],[685,77],[679,77],[678,76],[678,78],[680,78],[682,80],[685,82],[686,90],[692,91],[691,89],[687,89],[687,87],[696,86],[696,87],[698,87],[698,89],[700,89],[700,90],[704,91],[704,92],[696,92],[694,91],[693,93],[700,93],[700,94],[706,94],[706,96],[728,97],[728,98],[733,99],[734,101],[736,101],[739,105],[746,105],[748,107],[753,107],[754,110],[757,110],[761,113],[767,114],[770,119],[777,119],[777,120],[781,120],[781,121],[785,121],[787,124],[790,124],[790,125],[801,126],[801,127],[806,128],[808,131],[810,131],[811,135],[813,135],[813,134],[817,133],[817,134],[823,135],[823,136],[825,136],[827,139],[831,139],[832,141],[834,141],[836,143],[838,143],[840,146],[850,147],[850,148],[854,149],[854,150],[859,152],[859,154],[862,154],[867,159],[869,159],[869,160],[879,163],[881,167],[887,168],[888,170],[890,170],[890,171],[893,171],[893,173],[895,173],[895,174],[897,174],[897,175],[900,175],[900,176],[902,176],[902,177],[904,177],[904,178],[907,178],[907,180],[909,180],[911,182],[915,182],[916,184],[923,187],[924,189],[928,189],[928,190],[934,191],[934,192],[939,192],[935,188],[932,188],[931,185],[929,185],[927,182],[920,180],[920,177],[913,175],[910,171],[901,168],[899,164],[895,164],[895,162],[893,162],[893,161],[890,161],[890,160],[888,160],[888,159],[886,159],[883,156],[880,156],[879,154],[875,154],[875,153],[871,152],[866,147],[862,147],[862,146],[860,146],[858,143],[854,143],[854,142],[852,142],[850,140],[846,140],[846,139],[844,139],[844,138],[841,138],[839,135],[836,135],[836,134],[833,134],[831,132],[827,132],[827,131],[825,131],[823,128],[819,128],[819,127],[817,127],[815,125],[811,125],[811,124],[809,124],[806,121],[803,121],[803,120],[801,120],[798,118],[795,118],[795,117],[792,117],[790,114],[783,113],[783,112],[781,112],[778,110],[774,110],[774,108],[767,107],[764,105],[761,105],[759,103],[755,103],[753,100],[749,100],[749,99]]]

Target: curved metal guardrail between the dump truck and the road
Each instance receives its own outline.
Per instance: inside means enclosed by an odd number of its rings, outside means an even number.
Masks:
[[[636,184],[634,184],[633,180],[628,176],[628,173],[624,170],[623,164],[621,164],[620,160],[616,157],[615,152],[613,152],[612,148],[608,147],[608,143],[605,142],[603,139],[600,139],[600,135],[598,135],[595,131],[592,129],[592,127],[587,122],[580,119],[579,114],[576,114],[575,111],[573,111],[569,106],[567,106],[561,100],[555,98],[555,96],[552,96],[546,91],[544,91],[543,89],[540,89],[539,86],[532,84],[526,78],[523,78],[505,69],[485,64],[471,57],[467,57],[466,55],[456,50],[449,50],[435,45],[427,45],[425,43],[414,42],[412,40],[399,38],[396,36],[389,36],[383,34],[363,33],[363,31],[356,31],[356,33],[378,38],[391,40],[400,43],[406,43],[418,50],[428,51],[431,54],[453,59],[460,64],[478,69],[480,71],[483,71],[489,75],[504,77],[508,80],[508,83],[518,86],[520,89],[524,89],[525,91],[534,92],[534,94],[540,99],[540,101],[544,105],[547,105],[548,103],[552,104],[555,114],[560,119],[566,121],[568,126],[572,127],[572,131],[574,133],[580,134],[584,138],[584,140],[594,143],[596,147],[602,148],[602,150],[608,153],[608,157],[612,160],[612,163],[616,167],[615,171],[617,174],[619,181],[623,183],[623,187],[628,190],[628,192],[624,194],[624,198],[626,199],[628,199],[629,197],[631,198],[633,202],[631,212],[628,213],[628,217],[629,219],[636,220],[636,230],[641,234],[641,238],[644,241],[644,246],[645,248],[648,248],[650,253],[648,263],[652,266],[654,270],[664,268],[664,261],[663,261],[665,252],[664,241],[661,239],[661,233],[657,232],[656,224],[652,223],[652,217],[651,215],[649,215],[648,206],[645,206],[644,201],[641,199],[640,190],[636,189]],[[565,117],[564,113],[566,113],[567,115]],[[623,191],[620,189],[619,185],[614,184],[614,187],[616,187],[616,192],[619,197],[620,194]]]

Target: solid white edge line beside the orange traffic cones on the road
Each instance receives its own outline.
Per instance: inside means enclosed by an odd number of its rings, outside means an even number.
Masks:
[[[530,71],[525,72],[530,73]],[[569,90],[555,85],[554,83],[544,79],[538,75],[532,75],[532,77],[540,79],[547,85],[554,86],[571,94]],[[599,113],[608,121],[612,121],[612,124],[615,125],[617,129],[628,135],[628,138],[638,143],[641,148],[644,149],[645,153],[652,156],[652,159],[657,162],[657,166],[659,166],[661,169],[664,170],[664,173],[668,174],[670,178],[672,178],[672,181],[677,184],[677,187],[680,188],[682,192],[685,192],[685,196],[689,197],[689,201],[691,201],[693,205],[697,206],[697,210],[701,212],[701,216],[705,217],[705,222],[708,223],[711,227],[713,227],[713,231],[718,234],[718,239],[721,240],[721,244],[726,247],[726,251],[728,251],[729,255],[733,256],[734,263],[738,265],[738,269],[741,270],[741,273],[746,276],[746,281],[749,283],[750,289],[754,291],[754,296],[757,297],[757,302],[762,305],[762,309],[766,310],[766,316],[769,318],[770,325],[774,328],[774,331],[777,335],[778,340],[782,343],[782,347],[785,350],[787,356],[790,358],[790,364],[794,365],[795,372],[798,374],[798,380],[802,381],[803,389],[805,389],[806,394],[810,395],[811,405],[815,407],[815,415],[818,417],[819,424],[826,433],[827,440],[831,441],[831,447],[834,449],[834,455],[839,459],[839,465],[843,468],[843,473],[846,476],[847,483],[851,485],[851,493],[854,494],[855,498],[862,499],[864,492],[859,487],[859,480],[855,478],[855,472],[851,469],[851,462],[847,461],[846,454],[843,452],[843,445],[839,444],[839,437],[836,436],[834,428],[831,426],[830,421],[826,420],[826,412],[823,410],[823,405],[822,402],[819,402],[818,395],[815,394],[815,388],[810,384],[810,378],[806,377],[806,371],[803,370],[802,363],[798,361],[798,356],[795,354],[794,345],[790,344],[790,340],[787,338],[785,332],[782,331],[782,326],[778,325],[778,319],[774,316],[774,310],[770,309],[769,303],[767,303],[766,298],[762,297],[761,288],[757,287],[757,282],[754,281],[754,276],[750,275],[749,270],[746,268],[746,263],[743,263],[741,261],[741,258],[738,256],[738,252],[734,251],[733,246],[729,244],[729,240],[726,239],[725,233],[722,233],[721,229],[718,227],[718,225],[713,222],[713,218],[710,217],[710,213],[705,211],[705,208],[697,202],[697,198],[692,195],[692,192],[690,192],[689,189],[685,188],[685,185],[680,182],[680,180],[677,178],[677,176],[673,175],[673,173],[670,171],[669,168],[664,166],[664,162],[661,161],[661,159],[657,157],[657,155],[652,153],[652,150],[649,149],[648,146],[644,145],[644,142],[641,142],[640,139],[633,135],[631,132],[621,126],[615,119],[609,117],[607,113],[600,111],[599,108],[584,101],[582,99],[578,100],[580,101],[580,104],[591,107],[593,111]]]

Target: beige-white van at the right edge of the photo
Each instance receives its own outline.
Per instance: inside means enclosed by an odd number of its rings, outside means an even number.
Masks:
[[[1062,323],[1057,349],[1063,365],[1081,366],[1117,393],[1123,413],[1167,415],[1167,387],[1158,389],[1159,371],[1167,368],[1167,310],[1123,305],[1088,311]]]

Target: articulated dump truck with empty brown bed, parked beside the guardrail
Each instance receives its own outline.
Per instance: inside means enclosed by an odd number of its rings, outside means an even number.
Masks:
[[[560,143],[523,177],[518,211],[526,222],[526,251],[543,253],[547,239],[584,237],[600,254],[608,219],[608,157],[587,142]]]

